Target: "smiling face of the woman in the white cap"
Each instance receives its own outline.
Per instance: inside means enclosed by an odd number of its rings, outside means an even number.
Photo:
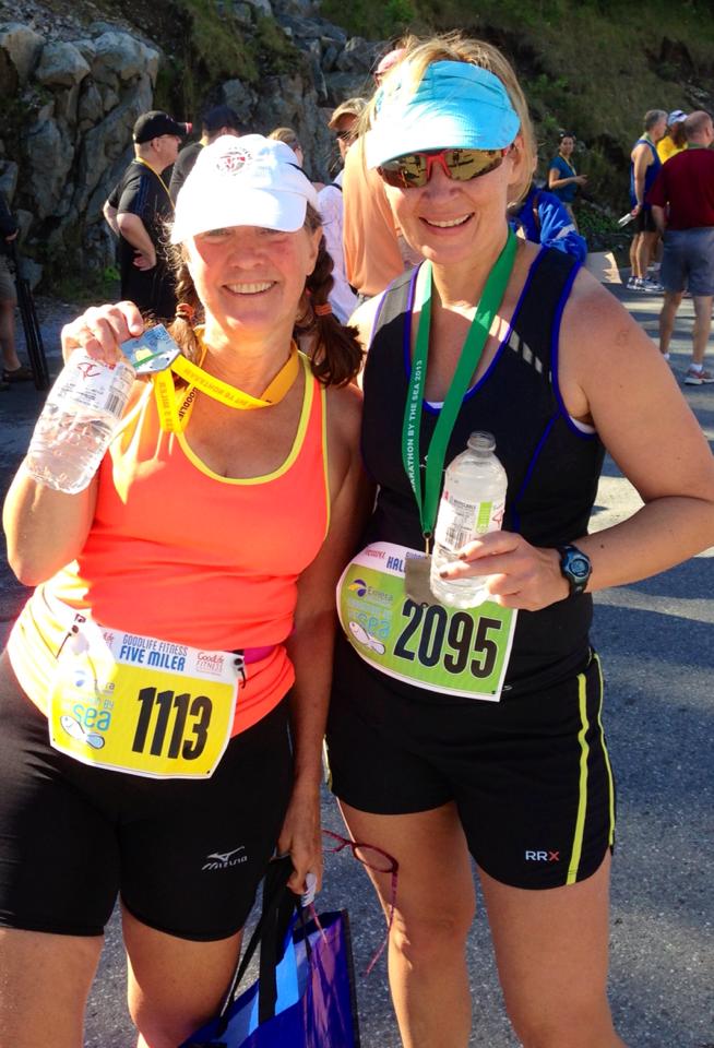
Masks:
[[[305,282],[314,269],[322,229],[281,233],[255,226],[214,229],[185,247],[206,334],[265,337],[291,334]]]

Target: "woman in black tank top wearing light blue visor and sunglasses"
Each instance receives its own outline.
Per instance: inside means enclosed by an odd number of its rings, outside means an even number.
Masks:
[[[508,62],[454,35],[412,49],[370,119],[367,163],[427,264],[356,318],[370,347],[362,451],[378,497],[341,594],[333,788],[353,836],[400,865],[390,979],[405,1046],[468,1043],[471,853],[521,1043],[615,1048],[623,1041],[605,992],[614,788],[590,594],[714,541],[711,454],[665,362],[616,299],[573,260],[519,242],[443,451],[448,465],[473,430],[487,430],[508,474],[502,529],[467,543],[445,571],[485,579],[488,611],[456,621],[409,600],[408,562],[428,551],[433,526],[417,495],[426,505],[437,420],[484,289],[511,250],[507,205],[528,186],[535,150]],[[591,535],[605,449],[644,507]],[[371,618],[360,618],[370,599]],[[456,666],[465,632],[483,669],[489,630],[508,609],[516,624],[488,696],[500,692],[500,702],[430,682],[429,666]],[[389,912],[390,874],[370,877]]]

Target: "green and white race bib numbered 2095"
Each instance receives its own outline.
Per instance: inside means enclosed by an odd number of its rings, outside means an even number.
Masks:
[[[423,555],[373,543],[347,565],[337,584],[345,635],[383,674],[418,688],[498,702],[517,611],[485,602],[457,610],[426,607],[407,596],[405,564]]]

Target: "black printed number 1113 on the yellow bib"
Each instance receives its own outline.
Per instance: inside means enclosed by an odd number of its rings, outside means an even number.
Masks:
[[[172,760],[180,757],[186,761],[201,757],[213,713],[213,703],[207,695],[191,696],[188,692],[177,695],[172,691],[142,688],[136,701],[141,708],[131,746],[134,753],[146,753],[148,747],[152,757]],[[156,717],[151,730],[154,711]]]

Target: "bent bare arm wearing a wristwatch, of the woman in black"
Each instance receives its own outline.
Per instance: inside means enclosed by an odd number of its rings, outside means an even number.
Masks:
[[[592,560],[587,590],[646,579],[714,544],[706,439],[652,341],[587,273],[566,308],[560,352],[567,410],[595,425],[643,501],[627,521],[573,536]],[[487,588],[504,606],[537,610],[568,594],[557,551],[519,535],[493,532],[465,553],[449,575],[489,575]]]

